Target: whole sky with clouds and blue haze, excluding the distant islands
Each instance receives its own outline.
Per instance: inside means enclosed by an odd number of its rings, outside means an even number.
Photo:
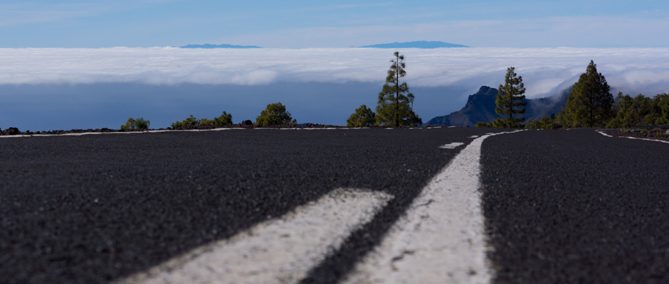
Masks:
[[[516,67],[527,97],[557,94],[590,60],[612,92],[669,91],[669,1],[1,0],[0,127],[167,127],[227,111],[235,123],[283,102],[300,123],[343,125],[374,107],[406,49],[423,121],[463,107]],[[182,49],[187,44],[263,49]]]

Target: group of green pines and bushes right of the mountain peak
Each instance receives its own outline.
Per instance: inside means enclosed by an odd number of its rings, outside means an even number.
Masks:
[[[477,127],[553,129],[554,127],[609,127],[623,128],[633,125],[669,126],[669,94],[655,97],[636,97],[618,92],[611,94],[606,77],[597,72],[597,65],[590,61],[586,72],[581,74],[567,97],[564,109],[557,116],[544,116],[527,121],[520,116],[525,113],[525,87],[522,77],[514,67],[507,68],[505,84],[500,84],[495,101],[495,112],[499,119],[490,123],[478,122]],[[514,117],[515,115],[515,117]]]

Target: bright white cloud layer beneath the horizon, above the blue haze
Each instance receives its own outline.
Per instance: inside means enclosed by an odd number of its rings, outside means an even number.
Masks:
[[[393,51],[374,48],[0,49],[0,84],[382,84]],[[504,79],[506,68],[514,66],[524,79],[527,97],[541,97],[576,82],[590,60],[594,60],[615,92],[648,95],[669,92],[669,48],[400,51],[406,58],[406,81],[410,87],[457,87],[473,91],[481,85],[497,87]]]

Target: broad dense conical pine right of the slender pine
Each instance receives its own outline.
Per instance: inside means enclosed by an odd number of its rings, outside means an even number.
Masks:
[[[613,95],[606,78],[597,73],[597,65],[590,60],[586,72],[574,84],[567,104],[562,109],[564,121],[571,127],[604,126],[611,119]]]

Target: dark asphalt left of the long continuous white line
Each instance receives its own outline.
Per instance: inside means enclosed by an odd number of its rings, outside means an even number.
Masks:
[[[334,283],[463,148],[439,146],[491,131],[246,129],[1,139],[0,282],[109,283],[337,187],[393,195],[303,281]]]

